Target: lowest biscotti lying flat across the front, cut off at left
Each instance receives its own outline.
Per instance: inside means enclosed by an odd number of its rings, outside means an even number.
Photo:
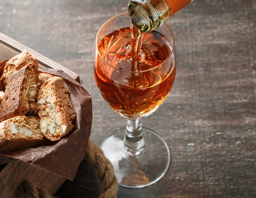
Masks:
[[[0,123],[0,153],[46,145],[48,140],[40,130],[40,119],[17,116]]]

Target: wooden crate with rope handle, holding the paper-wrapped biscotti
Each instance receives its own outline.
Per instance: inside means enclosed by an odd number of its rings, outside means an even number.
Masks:
[[[61,69],[79,82],[79,76],[74,72],[0,33],[0,61],[14,57],[23,49],[37,58],[40,68]],[[5,161],[8,158],[0,158],[0,198],[14,198],[17,188],[25,180],[53,195],[66,180],[24,161]]]

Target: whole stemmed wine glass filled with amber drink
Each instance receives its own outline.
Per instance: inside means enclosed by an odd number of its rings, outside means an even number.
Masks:
[[[108,135],[101,147],[113,164],[119,185],[129,188],[154,184],[171,162],[163,138],[141,124],[141,118],[162,105],[175,79],[174,37],[168,25],[143,33],[139,57],[134,64],[129,14],[102,25],[96,37],[95,80],[108,105],[127,118],[127,125]]]

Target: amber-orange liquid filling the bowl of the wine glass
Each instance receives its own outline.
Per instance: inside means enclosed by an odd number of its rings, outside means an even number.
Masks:
[[[149,31],[131,39],[135,34],[136,29],[127,27],[105,36],[98,45],[102,58],[97,54],[94,65],[100,93],[128,118],[153,113],[168,96],[176,73],[171,58],[164,62],[173,49],[166,37]]]

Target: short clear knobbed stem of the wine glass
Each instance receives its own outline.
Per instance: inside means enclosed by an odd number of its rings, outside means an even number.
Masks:
[[[145,141],[140,118],[127,119],[124,142],[129,155],[139,155],[143,151]]]

